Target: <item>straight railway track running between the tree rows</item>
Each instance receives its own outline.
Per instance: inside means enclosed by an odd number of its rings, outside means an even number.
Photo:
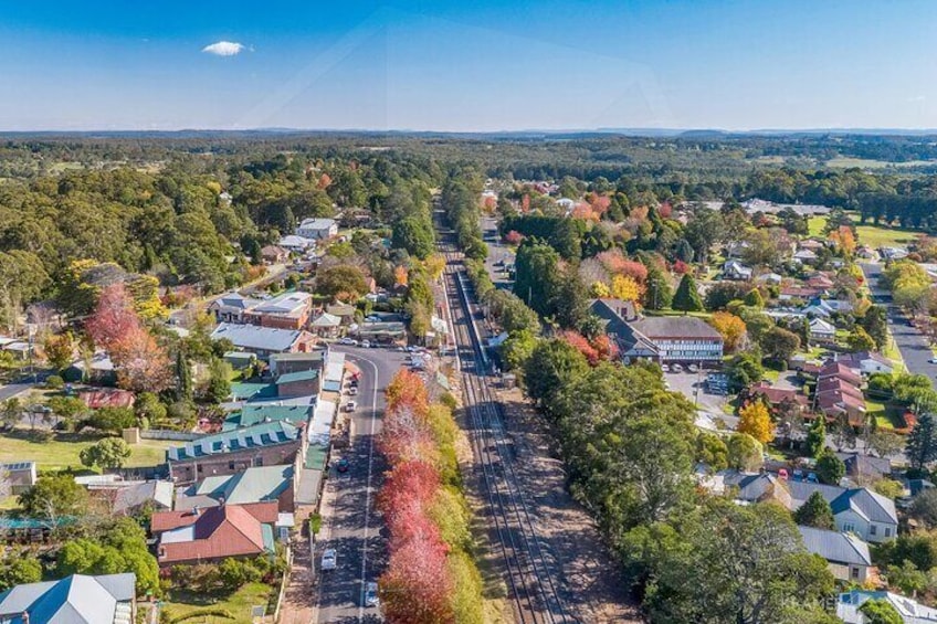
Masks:
[[[470,438],[489,517],[504,560],[508,592],[520,623],[576,622],[566,611],[514,470],[514,446],[504,430],[501,404],[488,385],[488,359],[472,311],[471,284],[462,254],[446,236],[448,305],[461,366],[462,387],[471,424]]]

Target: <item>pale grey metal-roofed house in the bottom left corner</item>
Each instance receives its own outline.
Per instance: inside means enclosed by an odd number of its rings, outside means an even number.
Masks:
[[[128,572],[17,585],[0,593],[0,623],[133,624],[136,582]]]

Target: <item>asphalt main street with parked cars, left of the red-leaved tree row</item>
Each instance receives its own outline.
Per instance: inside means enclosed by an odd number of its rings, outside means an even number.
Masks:
[[[361,370],[357,411],[351,414],[350,446],[334,451],[331,465],[348,459],[347,473],[330,468],[323,494],[323,530],[313,564],[319,578],[315,622],[379,622],[377,609],[364,606],[365,584],[377,581],[385,565],[382,522],[375,516],[375,494],[385,464],[375,448],[385,408],[383,390],[403,363],[406,353],[333,345]],[[346,402],[348,396],[343,396]],[[320,571],[326,548],[337,551],[338,568]]]

